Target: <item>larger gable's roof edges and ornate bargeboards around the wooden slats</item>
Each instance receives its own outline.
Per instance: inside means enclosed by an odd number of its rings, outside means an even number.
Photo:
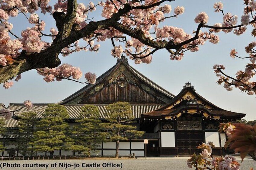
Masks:
[[[95,93],[102,91],[102,89],[116,82],[119,78],[118,76],[120,75],[125,76],[128,83],[139,87],[146,94],[155,98],[155,101],[159,100],[159,102],[168,103],[174,97],[173,94],[135,70],[129,65],[127,58],[122,56],[120,59],[117,59],[116,65],[111,67],[96,79],[95,84],[86,85],[74,94],[60,101],[59,104],[82,104],[81,102],[83,102],[85,99],[88,99],[89,97],[95,95]],[[98,90],[97,92],[94,90],[96,88]]]

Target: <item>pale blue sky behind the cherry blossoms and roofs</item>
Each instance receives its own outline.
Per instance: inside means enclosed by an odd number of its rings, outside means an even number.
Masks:
[[[54,4],[56,1],[51,1]],[[79,2],[79,1],[78,1]],[[82,2],[82,1],[80,1]],[[83,1],[85,4],[89,1]],[[95,4],[98,1],[92,1]],[[167,2],[172,6],[171,14],[176,6],[184,6],[184,14],[177,18],[170,18],[160,24],[161,26],[176,26],[183,28],[185,32],[192,33],[197,29],[194,18],[200,12],[206,12],[209,16],[207,25],[222,22],[222,14],[214,12],[213,4],[216,0],[176,0]],[[243,14],[243,1],[223,0],[224,13],[231,12],[238,16],[238,24],[240,24],[241,15]],[[171,15],[170,14],[170,15]],[[29,16],[29,15],[28,15]],[[102,20],[101,8],[90,14],[93,20]],[[46,22],[44,33],[49,33],[50,28],[55,27],[53,18],[49,15],[40,14],[40,20]],[[18,16],[9,20],[14,28],[12,32],[20,35],[21,30],[32,27],[24,16]],[[237,88],[232,91],[226,91],[223,85],[218,85],[216,81],[218,77],[213,72],[214,64],[223,64],[226,66],[225,73],[235,76],[238,70],[244,70],[248,59],[234,59],[229,56],[231,49],[235,48],[240,56],[245,57],[245,46],[254,41],[254,37],[250,35],[251,26],[241,36],[233,33],[225,34],[220,32],[217,35],[220,42],[216,45],[206,42],[200,46],[197,52],[186,52],[181,61],[170,60],[170,54],[166,50],[159,50],[153,54],[152,63],[150,64],[134,64],[133,60],[128,62],[140,73],[162,86],[172,94],[177,95],[186,82],[191,82],[196,92],[209,100],[211,103],[225,110],[233,112],[247,113],[246,120],[256,119],[256,98],[255,95],[247,95]],[[203,29],[202,29],[203,30]],[[51,39],[47,38],[51,42]],[[82,40],[81,40],[82,41]],[[95,42],[96,43],[96,42]],[[113,48],[109,39],[100,43],[101,48],[98,53],[80,51],[73,53],[67,57],[60,56],[62,63],[69,63],[73,66],[80,67],[83,73],[88,71],[96,73],[100,76],[102,73],[112,67],[117,59],[110,54]],[[82,77],[80,79],[84,81]],[[14,82],[14,86],[5,89],[0,87],[0,103],[8,106],[9,103],[22,103],[24,100],[31,100],[33,103],[57,103],[69,95],[75,93],[84,87],[83,84],[62,80],[61,82],[47,83],[43,80],[36,70],[31,70],[21,74],[21,79]]]

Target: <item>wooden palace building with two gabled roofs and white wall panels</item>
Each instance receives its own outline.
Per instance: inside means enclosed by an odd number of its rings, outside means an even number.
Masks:
[[[118,101],[131,104],[137,130],[145,131],[142,138],[121,141],[119,155],[135,153],[136,156],[173,156],[200,153],[196,149],[202,142],[212,141],[216,148],[213,154],[221,155],[226,135],[218,133],[219,122],[241,119],[243,113],[221,109],[197,94],[191,83],[186,83],[178,95],[171,94],[143,76],[128,64],[125,57],[117,60],[116,65],[99,76],[96,83],[86,85],[58,104],[64,105],[69,113],[69,124],[75,124],[78,113],[85,104],[98,107],[101,119],[106,113],[105,106]],[[34,104],[32,112],[41,118],[48,104]],[[0,105],[0,107],[4,107]],[[10,103],[8,109],[18,110],[23,104]],[[27,112],[22,108],[15,112]],[[6,128],[16,128],[18,120],[6,120]],[[148,144],[144,144],[148,139]],[[11,150],[14,146],[6,146]],[[44,153],[37,153],[37,155]],[[59,151],[54,152],[58,155]],[[61,155],[72,155],[61,151]],[[105,142],[92,155],[115,155],[115,142]],[[8,155],[5,151],[3,156]]]

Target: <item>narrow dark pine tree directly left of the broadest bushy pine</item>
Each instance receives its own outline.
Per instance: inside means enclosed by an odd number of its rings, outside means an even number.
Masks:
[[[17,155],[33,155],[34,148],[31,145],[33,141],[34,126],[37,125],[38,119],[37,113],[27,112],[18,116],[18,136],[16,138],[17,143]]]

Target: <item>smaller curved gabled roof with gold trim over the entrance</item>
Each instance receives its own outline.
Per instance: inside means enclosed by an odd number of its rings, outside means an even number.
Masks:
[[[173,117],[177,118],[181,116],[182,113],[199,113],[206,118],[209,116],[213,119],[240,119],[246,115],[244,113],[231,112],[217,107],[200,96],[195,91],[194,87],[191,86],[191,83],[188,82],[183,86],[181,92],[170,101],[170,103],[152,112],[144,113],[141,116],[143,118],[165,119],[168,117],[172,119]]]

